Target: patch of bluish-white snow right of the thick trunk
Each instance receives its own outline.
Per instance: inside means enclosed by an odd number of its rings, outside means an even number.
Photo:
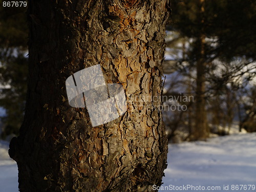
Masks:
[[[169,145],[162,186],[221,186],[223,191],[229,185],[225,191],[255,191],[231,189],[231,185],[256,185],[255,146],[256,133]]]

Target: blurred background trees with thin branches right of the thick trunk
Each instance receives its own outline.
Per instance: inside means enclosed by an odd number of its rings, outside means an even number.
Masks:
[[[234,120],[240,130],[251,125],[247,121],[253,118],[245,108],[253,102],[243,102],[245,97],[253,100],[255,1],[173,0],[172,10],[164,94],[194,95],[195,102],[185,112],[165,112],[166,117],[177,117],[166,118],[169,138],[205,140],[210,132],[228,134]],[[255,107],[249,105],[252,116]]]

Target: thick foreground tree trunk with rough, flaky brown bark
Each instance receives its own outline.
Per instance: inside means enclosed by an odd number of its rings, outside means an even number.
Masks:
[[[167,1],[29,1],[25,119],[9,154],[21,192],[153,191],[166,167],[161,75]],[[100,64],[127,112],[92,127],[65,80]]]

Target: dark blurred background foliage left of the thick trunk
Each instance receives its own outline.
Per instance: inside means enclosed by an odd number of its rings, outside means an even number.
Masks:
[[[0,116],[2,138],[17,135],[23,121],[28,73],[26,7],[0,7]]]

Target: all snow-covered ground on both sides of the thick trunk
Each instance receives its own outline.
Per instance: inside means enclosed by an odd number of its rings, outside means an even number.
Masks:
[[[256,133],[169,145],[163,182],[159,191],[256,191]],[[17,185],[17,166],[1,141],[0,192],[17,192]]]

